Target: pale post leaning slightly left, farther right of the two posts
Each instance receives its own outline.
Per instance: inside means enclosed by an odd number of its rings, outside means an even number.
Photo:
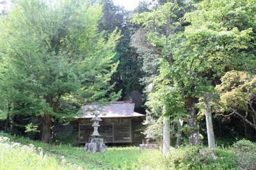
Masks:
[[[207,138],[209,148],[215,148],[214,130],[212,125],[212,111],[210,103],[210,94],[205,94],[205,119],[207,127]]]

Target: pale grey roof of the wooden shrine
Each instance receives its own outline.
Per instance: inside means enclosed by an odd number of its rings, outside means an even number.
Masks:
[[[92,118],[93,113],[99,113],[99,117],[144,117],[134,112],[134,103],[131,101],[118,101],[111,104],[85,104],[82,106],[83,115],[77,118]]]

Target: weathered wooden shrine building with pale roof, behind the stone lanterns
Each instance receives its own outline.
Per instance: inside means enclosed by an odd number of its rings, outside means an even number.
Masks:
[[[93,132],[92,115],[97,113],[102,119],[99,134],[104,143],[140,143],[141,123],[145,115],[134,112],[132,101],[118,101],[102,105],[86,104],[81,108],[82,114],[77,118],[79,124],[78,143],[86,143]]]

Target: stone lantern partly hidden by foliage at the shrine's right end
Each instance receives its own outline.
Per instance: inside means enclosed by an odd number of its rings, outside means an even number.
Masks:
[[[143,125],[147,125],[147,136],[145,137],[146,143],[143,143],[140,145],[140,149],[143,150],[145,148],[147,149],[157,149],[159,148],[159,145],[154,141],[154,136],[152,135],[152,132],[149,129],[149,125],[153,125],[151,117],[147,117]]]

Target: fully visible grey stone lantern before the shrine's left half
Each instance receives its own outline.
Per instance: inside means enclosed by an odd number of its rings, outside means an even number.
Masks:
[[[103,142],[103,138],[100,138],[98,132],[98,128],[100,127],[99,122],[102,121],[102,119],[98,117],[98,114],[95,114],[91,121],[93,122],[93,134],[89,142],[85,144],[84,150],[86,152],[106,152],[106,145]]]

